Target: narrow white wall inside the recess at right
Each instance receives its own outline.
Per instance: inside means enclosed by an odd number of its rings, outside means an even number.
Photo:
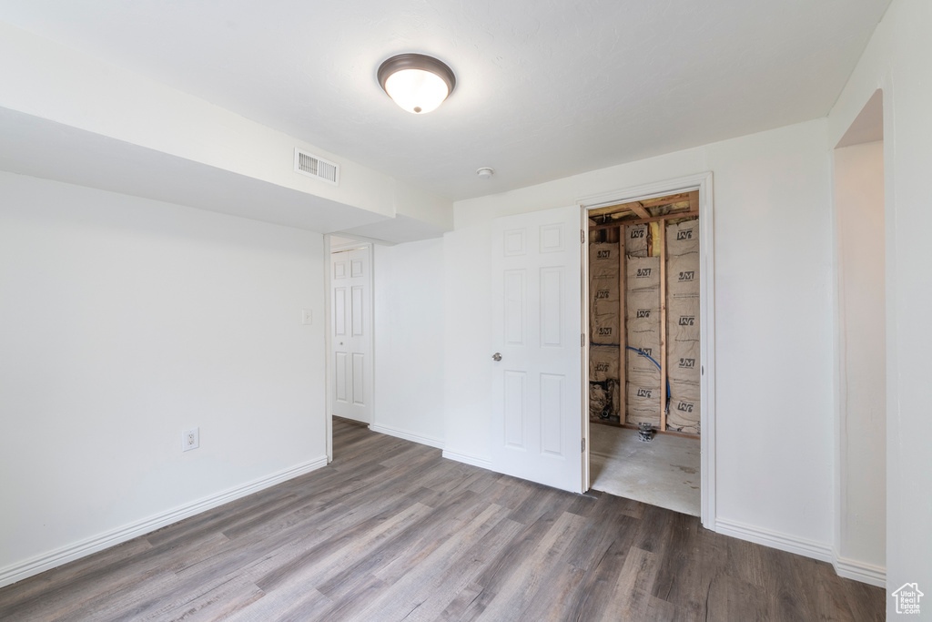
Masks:
[[[884,144],[835,149],[839,306],[839,563],[886,558]]]

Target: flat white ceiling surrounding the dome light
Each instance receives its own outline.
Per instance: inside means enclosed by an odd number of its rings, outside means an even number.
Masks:
[[[824,116],[889,3],[0,0],[0,20],[459,200]],[[457,75],[430,115],[376,82],[406,51]]]

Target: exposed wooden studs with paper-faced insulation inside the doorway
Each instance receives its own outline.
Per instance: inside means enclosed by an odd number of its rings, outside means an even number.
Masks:
[[[699,193],[589,212],[589,417],[700,434]]]

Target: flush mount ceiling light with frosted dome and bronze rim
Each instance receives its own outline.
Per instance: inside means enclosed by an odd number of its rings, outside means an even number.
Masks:
[[[457,86],[457,77],[431,56],[399,54],[378,67],[378,84],[395,104],[423,115],[443,104]]]

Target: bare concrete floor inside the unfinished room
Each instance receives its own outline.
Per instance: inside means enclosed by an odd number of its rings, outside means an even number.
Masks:
[[[637,436],[637,430],[589,426],[592,489],[699,516],[699,439],[654,435],[645,443]]]

